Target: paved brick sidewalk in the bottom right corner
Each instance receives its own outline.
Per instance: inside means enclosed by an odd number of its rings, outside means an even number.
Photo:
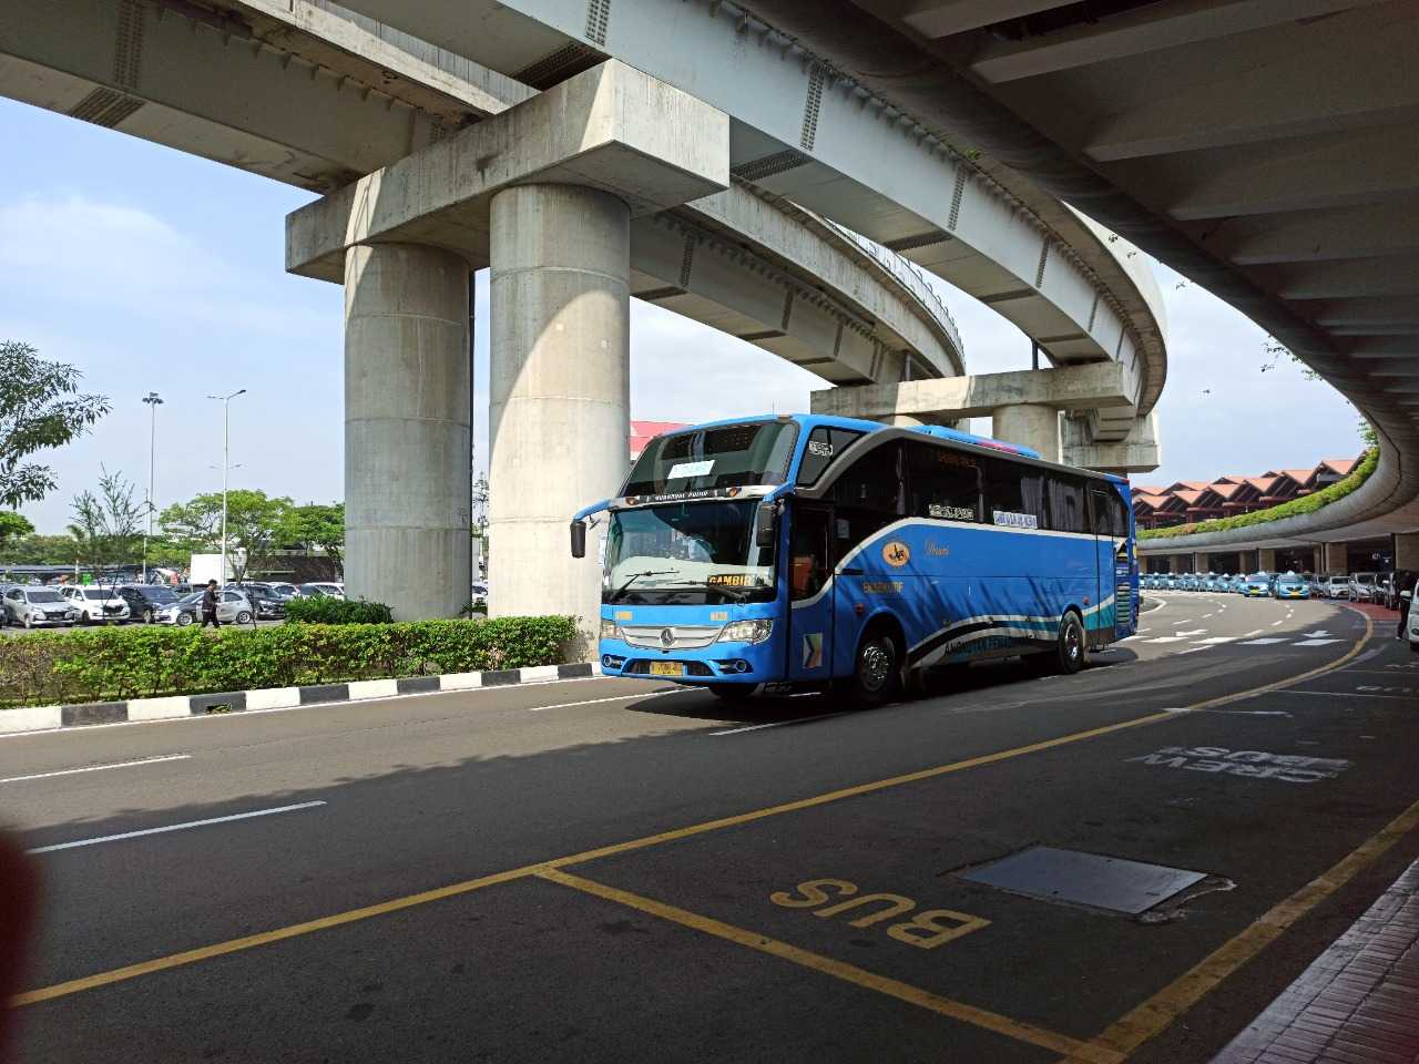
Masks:
[[[1313,1061],[1419,1064],[1419,861],[1212,1064]]]

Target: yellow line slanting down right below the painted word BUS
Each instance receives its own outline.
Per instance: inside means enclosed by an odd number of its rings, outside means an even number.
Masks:
[[[976,1009],[975,1006],[955,1002],[949,997],[941,997],[929,990],[922,990],[908,983],[901,983],[895,979],[867,972],[856,965],[834,960],[833,958],[823,956],[822,953],[813,953],[807,949],[799,949],[797,946],[790,946],[788,942],[779,942],[778,939],[768,938],[766,935],[745,931],[744,928],[736,928],[732,924],[725,924],[711,916],[701,916],[697,912],[688,912],[687,909],[667,905],[666,902],[656,901],[653,898],[644,898],[639,894],[631,894],[630,891],[607,887],[606,884],[593,882],[592,880],[583,880],[579,875],[569,875],[568,872],[558,871],[555,868],[545,868],[535,872],[535,875],[542,880],[549,880],[551,882],[559,882],[563,887],[570,887],[572,890],[582,891],[585,894],[595,894],[597,898],[614,901],[651,916],[667,919],[671,924],[680,924],[681,926],[702,931],[707,935],[714,935],[715,938],[722,938],[728,942],[756,949],[761,953],[776,956],[780,960],[789,960],[795,965],[810,968],[815,972],[830,975],[834,979],[841,979],[844,982],[854,983],[856,986],[866,987],[867,990],[876,990],[877,993],[887,994],[888,997],[895,997],[900,1002],[928,1009],[939,1016],[949,1016],[952,1020],[961,1020],[962,1023],[969,1023],[973,1027],[983,1027],[988,1031],[1003,1034],[1007,1038],[1025,1041],[1030,1046],[1039,1046],[1050,1050],[1051,1053],[1069,1053],[1071,1054],[1071,1058],[1076,1058],[1076,1054],[1083,1054],[1077,1058],[1093,1061],[1094,1064],[1117,1064],[1120,1060],[1117,1053],[1090,1047],[1086,1043],[1070,1038],[1064,1034],[1056,1034],[1054,1031],[1047,1031],[1043,1027],[1034,1027],[1029,1023],[1012,1020],[1007,1016],[1000,1016],[985,1009]]]

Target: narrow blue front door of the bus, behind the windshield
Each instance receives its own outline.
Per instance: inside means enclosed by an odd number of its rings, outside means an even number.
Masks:
[[[833,671],[833,509],[793,501],[789,529],[789,680]]]

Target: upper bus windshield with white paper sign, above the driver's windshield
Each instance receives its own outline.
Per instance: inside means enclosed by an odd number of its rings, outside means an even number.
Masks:
[[[782,484],[795,440],[793,421],[751,421],[661,436],[636,460],[624,494]]]

